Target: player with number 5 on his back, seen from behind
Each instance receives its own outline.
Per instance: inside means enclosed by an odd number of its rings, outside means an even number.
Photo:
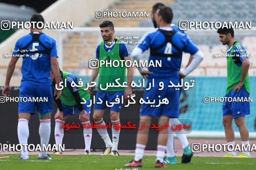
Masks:
[[[42,27],[44,18],[41,14],[33,14],[31,22],[35,22]],[[32,24],[33,25],[33,24]],[[43,33],[42,29],[31,26],[31,33],[17,40],[13,55],[22,55],[22,80],[20,86],[20,97],[47,97],[48,102],[43,101],[19,101],[18,113],[18,137],[20,144],[27,144],[29,137],[29,119],[31,114],[35,114],[35,107],[39,112],[40,126],[39,134],[41,146],[49,143],[51,133],[51,113],[53,104],[53,90],[51,77],[49,76],[51,68],[56,77],[56,83],[59,84],[60,71],[57,61],[56,40]],[[15,69],[19,57],[13,56],[7,69],[6,83],[3,89],[3,95],[10,94],[10,79]],[[57,90],[57,97],[61,95],[61,90]],[[23,147],[19,159],[29,159],[28,149]],[[51,159],[46,150],[40,152],[38,159]]]

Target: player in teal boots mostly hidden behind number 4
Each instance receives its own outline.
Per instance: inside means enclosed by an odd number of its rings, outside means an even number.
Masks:
[[[165,4],[161,3],[161,2],[158,2],[158,3],[154,4],[153,7],[152,7],[151,18],[152,18],[152,22],[153,22],[155,28],[157,28],[157,22],[156,22],[156,19],[155,19],[155,14],[157,12],[157,9],[159,9],[161,6],[165,6]],[[176,30],[176,31],[180,31],[181,33],[186,34],[186,32],[184,30],[180,30],[178,28],[178,26],[173,24],[173,23],[171,24],[171,27],[174,30]],[[190,37],[188,36],[188,38],[190,38]],[[187,65],[186,65],[186,68],[191,63],[192,59],[193,59],[193,56],[190,55],[189,61],[188,61]],[[179,124],[179,123],[180,122],[179,122],[178,118],[171,117],[169,119],[169,125]],[[182,144],[182,148],[183,148],[183,156],[181,158],[181,162],[182,163],[190,162],[191,157],[193,156],[193,152],[192,152],[192,150],[190,148],[190,145],[189,145],[189,142],[188,142],[186,134],[183,133],[183,132],[180,132],[180,131],[172,131],[171,128],[169,128],[169,136],[168,136],[167,148],[166,148],[167,156],[165,156],[164,162],[165,163],[172,163],[172,164],[176,164],[177,163],[176,156],[175,156],[175,153],[174,153],[174,145],[173,145],[173,133],[174,132],[176,133],[177,137],[179,138],[179,140],[180,140],[180,142]]]

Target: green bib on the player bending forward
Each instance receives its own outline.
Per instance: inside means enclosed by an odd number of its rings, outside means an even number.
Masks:
[[[63,76],[62,76],[62,79],[63,79],[63,82],[65,83],[65,79],[67,77],[67,75],[71,74],[69,72],[62,72],[63,73]],[[78,84],[77,82],[75,82],[76,84]],[[73,106],[73,105],[76,105],[76,100],[75,100],[75,97],[73,96],[72,92],[70,91],[69,87],[65,87],[65,84],[64,85],[64,88],[61,92],[61,96],[60,96],[60,100],[65,104],[65,105],[69,105],[69,106]],[[82,86],[82,87],[78,87],[78,93],[80,95],[80,98],[81,98],[81,101],[83,101],[82,98],[84,98],[86,101],[88,99],[90,99],[90,93],[88,93],[86,90],[84,90],[85,86]]]

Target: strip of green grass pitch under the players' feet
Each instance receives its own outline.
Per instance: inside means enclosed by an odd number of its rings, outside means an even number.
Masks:
[[[129,169],[123,165],[134,156],[101,156],[101,155],[53,155],[52,160],[38,160],[37,155],[30,155],[30,160],[18,160],[20,154],[1,154],[10,156],[0,159],[0,169]],[[154,168],[155,156],[145,156],[143,167]],[[181,161],[181,157],[177,157]],[[254,169],[256,158],[228,158],[228,157],[192,157],[190,163],[167,164],[173,169]],[[130,169],[133,169],[130,167]]]

